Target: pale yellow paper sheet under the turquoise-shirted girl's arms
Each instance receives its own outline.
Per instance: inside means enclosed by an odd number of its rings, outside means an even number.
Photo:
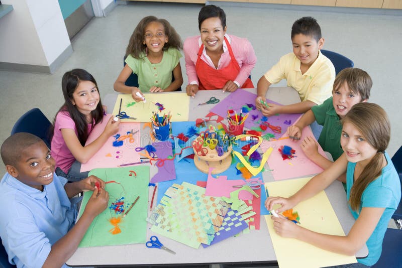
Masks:
[[[289,197],[302,188],[311,178],[265,183],[270,196]],[[300,226],[309,230],[345,236],[339,220],[324,191],[297,204],[293,211],[300,216]],[[356,262],[354,256],[333,253],[309,243],[284,238],[273,229],[271,216],[266,215],[269,235],[275,249],[279,267],[326,267]],[[306,257],[310,256],[310,257]]]

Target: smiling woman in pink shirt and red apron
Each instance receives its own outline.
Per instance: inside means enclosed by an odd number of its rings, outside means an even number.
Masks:
[[[257,61],[246,38],[226,34],[223,9],[210,5],[198,14],[200,36],[184,41],[183,51],[188,76],[187,95],[198,90],[254,88],[249,75]]]

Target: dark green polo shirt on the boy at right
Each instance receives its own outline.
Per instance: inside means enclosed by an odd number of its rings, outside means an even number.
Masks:
[[[325,100],[321,105],[313,106],[311,110],[317,123],[323,125],[318,143],[324,151],[332,155],[335,161],[343,154],[341,148],[342,125],[332,103],[332,97]]]

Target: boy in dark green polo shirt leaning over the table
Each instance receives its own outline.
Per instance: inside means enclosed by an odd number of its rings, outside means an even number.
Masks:
[[[289,136],[302,137],[303,128],[313,123],[323,125],[318,143],[324,151],[329,152],[332,158],[337,160],[342,154],[341,132],[342,119],[353,105],[366,102],[370,96],[373,82],[370,76],[359,68],[343,69],[336,76],[332,90],[332,97],[323,104],[313,106],[300,120],[287,128]],[[300,145],[306,156],[323,169],[331,166],[332,162],[318,153],[318,145],[312,137],[307,137]],[[346,176],[338,180],[346,182]]]

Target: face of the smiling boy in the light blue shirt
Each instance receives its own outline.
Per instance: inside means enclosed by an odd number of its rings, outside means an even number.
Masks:
[[[43,142],[37,142],[21,153],[16,166],[7,166],[10,175],[22,183],[43,190],[43,185],[53,181],[55,161]]]

